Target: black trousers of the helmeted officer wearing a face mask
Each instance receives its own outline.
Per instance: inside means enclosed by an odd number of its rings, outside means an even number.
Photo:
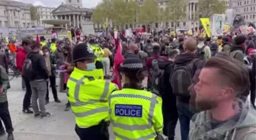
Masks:
[[[102,132],[102,126],[91,126],[86,129],[79,128],[75,125],[75,132],[80,140],[109,140],[109,132],[107,127]]]

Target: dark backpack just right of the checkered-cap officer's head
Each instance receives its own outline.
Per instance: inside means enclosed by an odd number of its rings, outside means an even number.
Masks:
[[[152,84],[158,85],[158,82],[157,82],[158,81],[158,77],[162,76],[162,74],[163,74],[163,71],[160,70],[160,68],[158,67],[158,63],[162,63],[162,62],[163,62],[163,57],[162,56],[160,56],[158,59],[154,59],[153,58],[153,60],[152,60],[152,67],[149,70],[150,82]],[[152,87],[153,87],[153,85],[152,85]],[[155,93],[158,94],[158,91],[155,91]]]

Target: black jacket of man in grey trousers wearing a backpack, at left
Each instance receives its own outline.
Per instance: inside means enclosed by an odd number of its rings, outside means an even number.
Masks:
[[[38,52],[31,51],[29,54],[27,54],[27,58],[30,58],[32,61],[32,67],[34,71],[34,73],[32,73],[34,78],[31,80],[49,78],[46,61],[44,60],[43,55],[39,54]]]

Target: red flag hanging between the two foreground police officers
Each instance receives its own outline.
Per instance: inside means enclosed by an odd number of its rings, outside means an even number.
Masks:
[[[113,76],[111,79],[111,82],[117,84],[119,89],[122,89],[122,76],[118,70],[118,67],[120,64],[123,63],[123,54],[122,54],[122,45],[121,42],[119,42],[117,46],[117,52],[114,56],[114,70],[113,70]]]

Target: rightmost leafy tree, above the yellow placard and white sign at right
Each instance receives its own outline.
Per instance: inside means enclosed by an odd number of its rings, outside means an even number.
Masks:
[[[198,0],[198,11],[201,17],[211,17],[213,14],[224,14],[226,4],[223,0]]]

